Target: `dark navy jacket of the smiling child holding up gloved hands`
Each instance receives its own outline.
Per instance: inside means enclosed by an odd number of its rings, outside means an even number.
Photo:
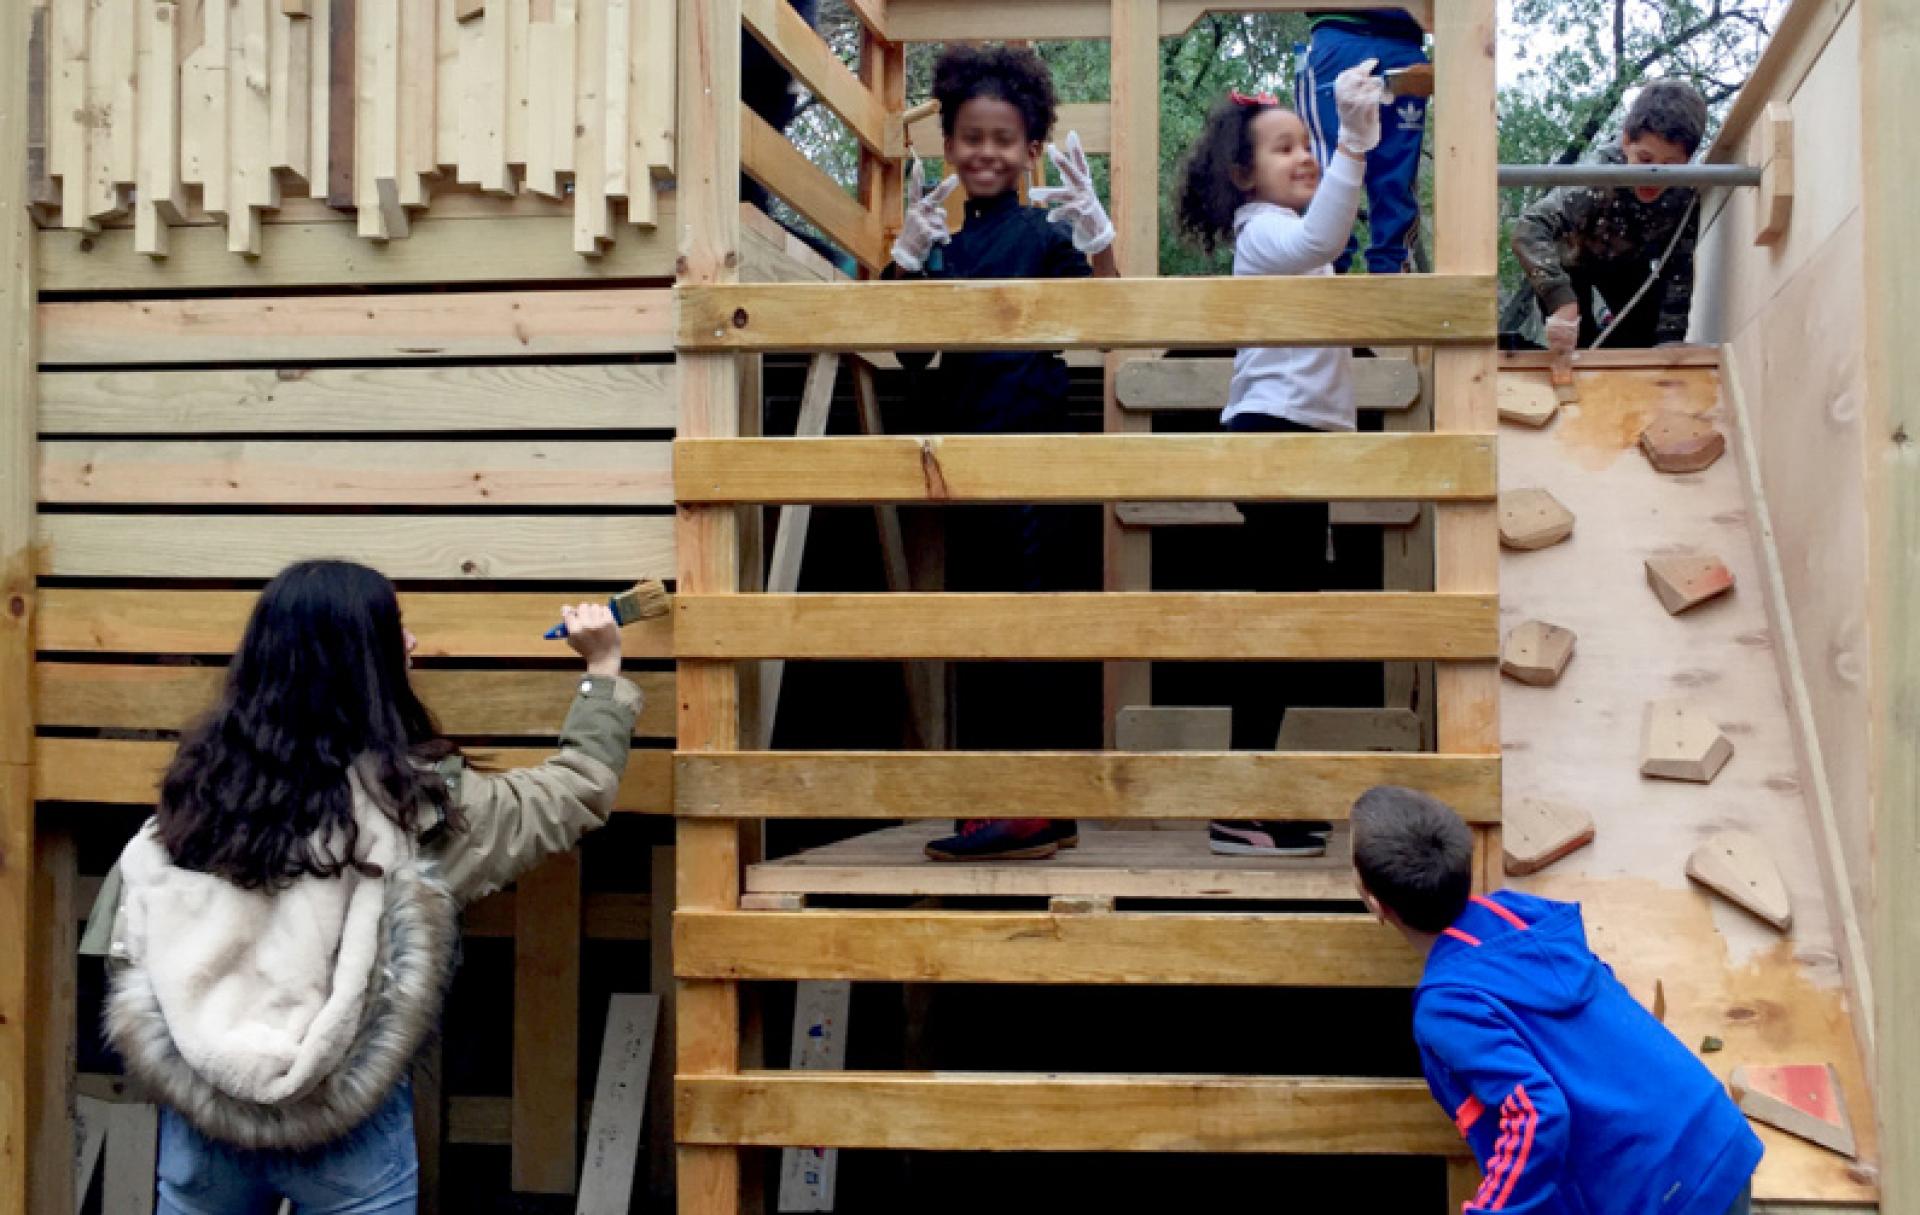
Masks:
[[[1092,265],[1073,248],[1068,225],[1021,205],[1014,192],[966,200],[966,223],[927,259],[927,278],[1089,278]],[[947,430],[1031,434],[1064,430],[1068,365],[1054,351],[941,353],[933,392]],[[924,370],[929,353],[900,353]]]

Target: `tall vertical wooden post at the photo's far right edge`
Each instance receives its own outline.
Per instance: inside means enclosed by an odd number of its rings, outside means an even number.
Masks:
[[[1920,104],[1920,12],[1860,6],[1860,165],[1866,265],[1866,570],[1874,660],[1868,754],[1874,831],[1874,1100],[1880,1209],[1920,1209],[1920,232],[1912,157],[1920,131],[1893,115]],[[1887,159],[1887,157],[1907,157]]]

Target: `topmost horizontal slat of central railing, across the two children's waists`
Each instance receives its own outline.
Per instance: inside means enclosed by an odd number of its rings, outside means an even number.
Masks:
[[[687,351],[1492,342],[1494,280],[1442,274],[678,286]]]

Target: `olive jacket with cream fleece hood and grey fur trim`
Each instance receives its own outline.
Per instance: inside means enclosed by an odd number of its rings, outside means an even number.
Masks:
[[[148,822],[83,952],[106,952],[108,1040],[198,1131],[252,1150],[332,1142],[371,1117],[440,1019],[459,908],[612,812],[639,689],[589,676],[538,768],[442,768],[465,825],[394,823],[349,774],[359,864],[242,889],[182,870]]]

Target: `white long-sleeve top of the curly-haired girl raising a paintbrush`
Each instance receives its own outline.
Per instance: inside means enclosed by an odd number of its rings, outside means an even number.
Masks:
[[[1359,213],[1363,161],[1329,161],[1308,213],[1250,202],[1233,215],[1235,274],[1332,274]],[[1325,345],[1252,345],[1233,357],[1221,422],[1265,413],[1315,430],[1354,430],[1354,353]]]

